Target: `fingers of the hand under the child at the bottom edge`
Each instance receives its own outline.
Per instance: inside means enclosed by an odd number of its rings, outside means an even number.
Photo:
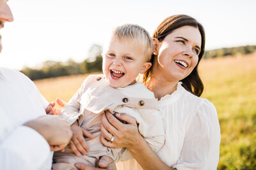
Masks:
[[[103,156],[100,158],[100,160],[98,162],[98,166],[100,168],[86,166],[86,165],[80,164],[80,163],[77,163],[75,166],[77,167],[77,169],[80,169],[80,170],[102,170],[102,169],[115,170],[116,169],[115,162],[113,161],[113,159],[111,159],[108,156]],[[72,169],[72,170],[75,170],[75,169]]]

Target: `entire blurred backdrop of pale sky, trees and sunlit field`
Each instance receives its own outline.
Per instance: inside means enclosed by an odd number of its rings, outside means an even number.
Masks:
[[[200,74],[218,111],[218,169],[256,169],[256,1],[12,0],[14,22],[0,30],[0,67],[21,70],[48,101],[68,101],[100,73],[106,35],[120,24],[152,34],[164,18],[186,14],[204,25]]]

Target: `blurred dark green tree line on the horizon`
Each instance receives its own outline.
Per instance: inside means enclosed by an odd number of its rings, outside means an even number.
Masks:
[[[232,48],[220,48],[205,51],[204,59],[227,56],[243,56],[256,52],[256,45],[237,46]],[[88,53],[87,59],[83,62],[75,62],[72,59],[67,62],[57,62],[53,60],[45,61],[40,68],[24,67],[21,72],[26,74],[31,80],[51,78],[58,76],[68,76],[74,74],[85,74],[102,71],[102,46],[93,45]]]

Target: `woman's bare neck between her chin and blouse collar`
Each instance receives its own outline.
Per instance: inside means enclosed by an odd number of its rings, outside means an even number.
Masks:
[[[178,81],[169,82],[161,78],[154,78],[152,76],[147,82],[147,89],[154,92],[155,97],[160,100],[161,97],[166,96],[166,94],[172,94],[177,90]]]

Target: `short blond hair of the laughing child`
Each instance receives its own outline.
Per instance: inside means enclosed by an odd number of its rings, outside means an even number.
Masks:
[[[110,39],[117,39],[123,41],[125,39],[132,40],[141,50],[144,50],[147,61],[150,60],[152,55],[153,40],[148,34],[148,31],[136,24],[118,25],[113,29]],[[109,40],[110,40],[109,39]]]

